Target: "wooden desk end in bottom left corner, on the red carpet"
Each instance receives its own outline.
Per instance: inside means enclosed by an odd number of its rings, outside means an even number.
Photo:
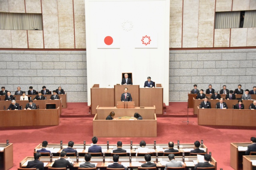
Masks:
[[[4,148],[4,150],[0,151],[0,169],[8,170],[13,166],[13,145],[9,143],[6,146],[6,143],[0,143],[0,147]]]

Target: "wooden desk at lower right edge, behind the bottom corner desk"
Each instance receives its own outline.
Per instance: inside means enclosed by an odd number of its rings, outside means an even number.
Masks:
[[[230,166],[235,170],[242,169],[243,156],[246,150],[238,150],[238,147],[247,147],[252,143],[230,143]],[[246,169],[249,170],[249,169]]]

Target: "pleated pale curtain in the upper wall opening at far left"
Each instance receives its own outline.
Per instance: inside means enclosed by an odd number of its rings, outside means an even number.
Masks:
[[[42,30],[42,14],[1,12],[0,29]]]

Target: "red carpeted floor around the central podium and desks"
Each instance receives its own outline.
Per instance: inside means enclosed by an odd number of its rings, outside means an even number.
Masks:
[[[0,143],[6,143],[6,139],[14,145],[14,167],[16,170],[19,162],[26,156],[33,156],[34,148],[42,141],[48,143],[74,143],[82,144],[83,141],[91,143],[92,119],[94,115],[88,114],[87,103],[68,103],[66,109],[62,109],[60,125],[47,127],[9,127],[0,128]],[[256,136],[256,127],[226,127],[226,126],[199,126],[197,117],[193,115],[193,109],[188,109],[189,121],[194,123],[182,123],[187,121],[187,103],[170,102],[166,108],[166,113],[157,115],[158,137],[147,138],[118,138],[99,137],[98,143],[116,144],[121,140],[124,144],[139,143],[145,140],[146,143],[168,143],[169,141],[180,140],[180,143],[194,143],[201,139],[212,152],[212,156],[217,160],[218,169],[232,170],[230,167],[230,143],[249,142],[250,137]],[[102,129],[104,130],[104,129]],[[144,129],[147,130],[146,127]]]

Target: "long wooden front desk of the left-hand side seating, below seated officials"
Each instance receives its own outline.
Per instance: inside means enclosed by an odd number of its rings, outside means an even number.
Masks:
[[[0,111],[0,127],[59,125],[60,107],[57,109]]]

